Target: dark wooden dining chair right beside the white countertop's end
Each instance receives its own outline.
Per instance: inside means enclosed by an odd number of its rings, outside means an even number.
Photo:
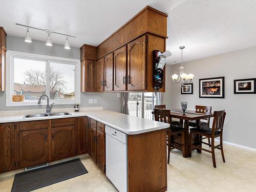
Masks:
[[[155,121],[160,121],[164,123],[169,123],[170,127],[167,129],[167,146],[168,146],[168,159],[167,163],[170,161],[170,151],[178,148],[179,150],[184,151],[184,134],[183,128],[179,126],[174,126],[170,123],[170,110],[157,109],[154,108]],[[181,135],[181,136],[180,136]],[[174,138],[179,138],[181,143],[178,143]]]

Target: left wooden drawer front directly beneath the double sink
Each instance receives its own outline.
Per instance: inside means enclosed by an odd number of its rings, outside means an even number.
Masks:
[[[48,120],[26,121],[19,123],[19,131],[39,130],[48,128]]]

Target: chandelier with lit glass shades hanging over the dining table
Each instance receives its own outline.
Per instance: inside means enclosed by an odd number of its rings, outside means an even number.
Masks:
[[[192,79],[194,78],[193,74],[186,74],[184,73],[184,67],[183,67],[183,52],[182,50],[185,48],[184,46],[179,47],[181,49],[181,67],[180,67],[180,76],[177,74],[172,75],[172,78],[174,82],[179,82],[180,87],[184,86],[184,83],[186,82],[192,82]]]

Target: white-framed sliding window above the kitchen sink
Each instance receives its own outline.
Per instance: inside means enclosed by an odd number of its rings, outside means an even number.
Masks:
[[[80,103],[79,60],[14,51],[7,57],[7,106],[37,105],[42,94],[55,104]],[[13,102],[13,95],[24,100]]]

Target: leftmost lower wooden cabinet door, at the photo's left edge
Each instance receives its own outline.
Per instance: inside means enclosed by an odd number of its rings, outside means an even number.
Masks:
[[[16,130],[14,123],[0,124],[0,173],[16,168]]]

